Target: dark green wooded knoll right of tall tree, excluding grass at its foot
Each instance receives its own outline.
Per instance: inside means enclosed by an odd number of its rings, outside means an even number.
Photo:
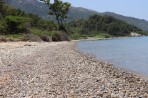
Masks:
[[[81,34],[105,32],[113,36],[128,36],[131,32],[141,31],[133,25],[117,20],[111,16],[92,15],[88,20],[77,20],[68,24],[80,29]],[[70,27],[69,27],[70,28]]]

